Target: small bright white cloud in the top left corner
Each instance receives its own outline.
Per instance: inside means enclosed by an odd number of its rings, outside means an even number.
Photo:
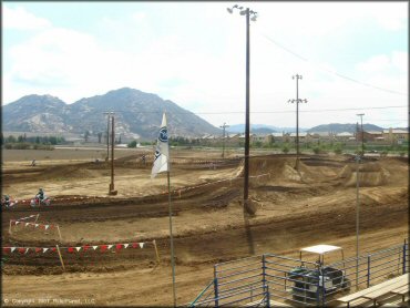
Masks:
[[[51,25],[51,22],[44,18],[37,17],[28,12],[22,7],[16,9],[2,6],[2,19],[4,29],[17,30],[38,30]]]

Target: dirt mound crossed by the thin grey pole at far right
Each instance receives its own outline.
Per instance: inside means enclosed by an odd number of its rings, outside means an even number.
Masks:
[[[357,185],[357,165],[346,165],[340,174],[339,178],[344,179],[345,186]],[[359,165],[359,185],[361,187],[381,186],[388,183],[390,173],[380,166],[379,163],[366,163]]]

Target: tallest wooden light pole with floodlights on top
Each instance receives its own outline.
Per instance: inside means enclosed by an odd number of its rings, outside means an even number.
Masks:
[[[246,114],[245,114],[245,166],[244,166],[244,206],[246,206],[249,196],[249,72],[250,72],[250,47],[249,47],[249,20],[256,21],[257,12],[249,8],[239,7],[235,4],[227,8],[229,13],[234,9],[239,10],[240,16],[246,16]],[[252,18],[250,18],[252,16]]]

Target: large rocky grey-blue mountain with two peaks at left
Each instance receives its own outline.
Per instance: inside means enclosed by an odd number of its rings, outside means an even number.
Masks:
[[[33,133],[78,133],[106,131],[106,115],[115,112],[115,132],[125,137],[155,138],[166,111],[171,135],[202,136],[219,130],[172,101],[151,93],[123,88],[104,95],[66,104],[51,95],[28,95],[2,106],[2,130]]]

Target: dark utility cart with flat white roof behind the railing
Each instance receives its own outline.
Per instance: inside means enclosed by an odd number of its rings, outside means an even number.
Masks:
[[[322,244],[300,249],[300,266],[287,273],[288,279],[293,281],[291,295],[295,300],[321,302],[325,296],[350,289],[350,280],[346,277],[345,268],[325,266],[325,255],[336,251],[341,253],[341,260],[344,261],[344,250],[338,246]],[[306,266],[303,253],[317,255],[317,266]]]

